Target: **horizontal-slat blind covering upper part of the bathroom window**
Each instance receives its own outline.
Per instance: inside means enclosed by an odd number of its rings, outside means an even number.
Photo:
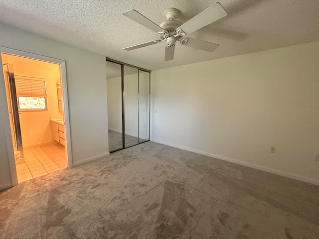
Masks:
[[[15,76],[15,90],[17,96],[47,97],[44,79],[35,80]]]

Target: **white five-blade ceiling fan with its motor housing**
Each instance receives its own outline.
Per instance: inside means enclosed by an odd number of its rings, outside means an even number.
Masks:
[[[172,60],[174,58],[175,42],[179,41],[181,45],[190,46],[196,49],[213,52],[219,46],[216,43],[202,41],[195,38],[185,37],[186,34],[190,34],[214,21],[227,15],[227,12],[222,7],[219,2],[208,7],[204,11],[200,12],[198,15],[194,16],[190,20],[186,21],[184,24],[179,20],[179,11],[175,8],[168,8],[164,11],[164,15],[167,20],[160,23],[160,25],[155,24],[150,19],[143,16],[140,12],[136,10],[131,10],[123,13],[125,16],[131,18],[132,20],[146,26],[147,28],[157,32],[160,39],[149,41],[135,46],[130,46],[123,48],[123,50],[131,51],[145,46],[150,46],[153,44],[166,41],[165,46],[165,61]]]

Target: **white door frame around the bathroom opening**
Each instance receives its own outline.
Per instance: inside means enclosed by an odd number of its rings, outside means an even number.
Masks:
[[[11,55],[16,56],[22,56],[26,58],[32,58],[35,60],[40,61],[48,61],[57,63],[60,65],[60,74],[61,74],[61,83],[62,83],[62,95],[63,95],[63,117],[64,117],[64,126],[65,126],[65,136],[66,136],[66,160],[68,167],[72,167],[72,150],[71,150],[71,136],[70,136],[70,118],[69,118],[69,101],[68,101],[68,89],[67,89],[67,79],[66,79],[66,65],[65,61],[47,57],[47,56],[41,56],[29,52],[14,50],[7,47],[0,46],[0,53],[7,53]],[[16,175],[16,168],[15,168],[15,161],[14,161],[14,153],[13,153],[13,143],[11,138],[11,128],[10,128],[10,120],[9,120],[9,111],[7,106],[7,98],[6,98],[6,92],[5,92],[5,85],[4,85],[4,76],[3,76],[3,65],[2,65],[2,58],[0,57],[0,102],[1,109],[2,109],[2,115],[3,115],[3,121],[4,121],[4,130],[5,130],[5,138],[6,138],[6,147],[8,151],[8,157],[9,157],[9,165],[10,165],[10,173],[11,173],[11,181],[12,186],[15,186],[18,184],[17,175]]]

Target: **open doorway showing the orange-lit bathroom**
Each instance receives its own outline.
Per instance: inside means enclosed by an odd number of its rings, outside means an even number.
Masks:
[[[61,64],[9,52],[1,60],[17,182],[70,167]]]

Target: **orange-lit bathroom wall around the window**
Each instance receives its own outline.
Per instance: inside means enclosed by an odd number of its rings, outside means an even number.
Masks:
[[[4,60],[2,60],[4,62]],[[20,127],[23,146],[53,142],[50,116],[60,116],[56,83],[60,82],[60,66],[33,59],[7,56],[6,63],[12,64],[14,74],[46,80],[48,111],[20,111]]]

